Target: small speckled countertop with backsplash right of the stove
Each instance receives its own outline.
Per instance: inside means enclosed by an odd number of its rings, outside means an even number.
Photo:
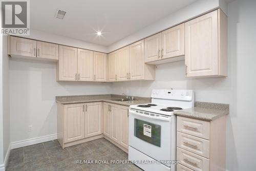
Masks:
[[[229,104],[195,102],[194,108],[175,111],[175,115],[211,121],[229,114]]]

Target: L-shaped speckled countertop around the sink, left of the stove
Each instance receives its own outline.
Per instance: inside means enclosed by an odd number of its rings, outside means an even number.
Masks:
[[[126,98],[121,95],[81,95],[81,96],[56,96],[56,102],[61,104],[74,104],[74,103],[88,103],[104,101],[119,105],[130,106],[133,104],[151,103],[151,98],[148,97],[134,97],[133,101],[115,101],[114,99]]]

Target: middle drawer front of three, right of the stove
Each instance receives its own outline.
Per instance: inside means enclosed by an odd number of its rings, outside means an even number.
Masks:
[[[177,146],[200,156],[210,157],[210,141],[177,132]]]

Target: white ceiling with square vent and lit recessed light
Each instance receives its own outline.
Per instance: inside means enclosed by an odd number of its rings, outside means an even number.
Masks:
[[[150,25],[196,0],[33,0],[30,27],[93,44],[114,42]],[[67,11],[64,19],[56,10]],[[97,36],[97,31],[102,36]]]

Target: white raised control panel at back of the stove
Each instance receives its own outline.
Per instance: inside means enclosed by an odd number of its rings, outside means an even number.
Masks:
[[[152,98],[172,99],[172,100],[193,100],[193,90],[178,90],[178,89],[155,89],[151,94]]]

